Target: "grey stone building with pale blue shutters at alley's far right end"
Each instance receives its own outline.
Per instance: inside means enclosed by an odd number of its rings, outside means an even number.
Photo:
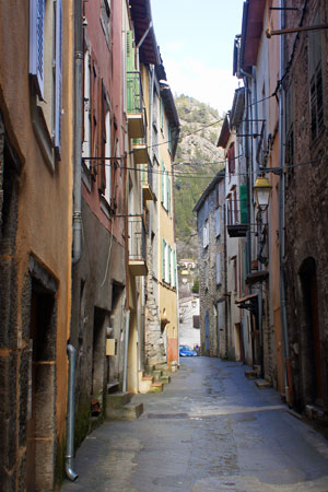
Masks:
[[[201,353],[226,358],[225,172],[218,173],[196,203],[199,248]]]

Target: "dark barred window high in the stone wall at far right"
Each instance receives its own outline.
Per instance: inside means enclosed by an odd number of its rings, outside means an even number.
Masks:
[[[314,24],[320,24],[317,14]],[[324,129],[324,87],[321,67],[321,31],[308,33],[308,78],[311,137],[314,142]]]

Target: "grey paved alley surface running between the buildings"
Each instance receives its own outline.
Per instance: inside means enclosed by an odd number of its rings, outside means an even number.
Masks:
[[[289,413],[245,365],[183,360],[163,394],[138,395],[144,413],[107,422],[78,450],[68,491],[328,491],[328,443]]]

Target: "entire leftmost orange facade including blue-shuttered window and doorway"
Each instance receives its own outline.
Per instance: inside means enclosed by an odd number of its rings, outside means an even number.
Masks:
[[[60,0],[0,4],[3,492],[54,491],[63,471],[73,57],[61,55],[72,45],[72,9]]]

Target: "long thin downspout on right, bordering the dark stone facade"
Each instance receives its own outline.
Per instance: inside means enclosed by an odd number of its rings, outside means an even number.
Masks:
[[[284,0],[280,0],[280,7],[284,7]],[[280,28],[284,27],[284,11],[280,12]],[[280,80],[284,73],[284,36],[279,36],[280,38]],[[280,306],[281,306],[281,325],[282,325],[282,339],[283,339],[283,352],[284,352],[284,385],[285,395],[290,406],[293,405],[293,385],[292,385],[292,368],[290,363],[290,351],[289,351],[289,335],[288,335],[288,323],[286,323],[286,303],[285,303],[285,283],[284,283],[284,187],[285,187],[285,176],[283,173],[284,166],[284,91],[281,85],[281,94],[279,98],[279,157],[280,157],[280,186],[279,186],[279,244],[280,244]]]

